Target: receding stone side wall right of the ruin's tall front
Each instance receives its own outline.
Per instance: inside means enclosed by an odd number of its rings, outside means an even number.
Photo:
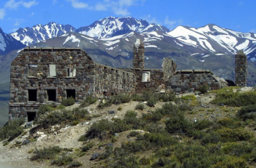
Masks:
[[[117,93],[135,93],[133,73],[96,64],[96,97],[106,97]]]

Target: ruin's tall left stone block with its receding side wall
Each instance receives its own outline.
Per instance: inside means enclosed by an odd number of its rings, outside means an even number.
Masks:
[[[36,100],[30,100],[30,89],[36,90]],[[57,106],[67,90],[75,91],[75,101],[133,93],[135,75],[99,65],[77,48],[26,48],[11,63],[9,118],[26,117],[42,104]],[[55,100],[49,91],[56,92]]]

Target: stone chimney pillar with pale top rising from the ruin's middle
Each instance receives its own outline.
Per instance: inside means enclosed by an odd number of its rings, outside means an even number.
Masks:
[[[144,44],[139,39],[133,46],[133,68],[144,69]]]

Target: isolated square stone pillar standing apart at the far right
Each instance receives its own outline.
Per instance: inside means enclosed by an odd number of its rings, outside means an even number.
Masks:
[[[243,50],[238,50],[235,65],[236,86],[247,86],[247,56]]]

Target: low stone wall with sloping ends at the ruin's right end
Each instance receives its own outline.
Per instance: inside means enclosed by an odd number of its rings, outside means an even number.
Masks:
[[[218,81],[209,70],[180,70],[170,77],[167,89],[176,93],[189,93],[198,91],[203,84],[209,85],[211,90],[227,86]]]

